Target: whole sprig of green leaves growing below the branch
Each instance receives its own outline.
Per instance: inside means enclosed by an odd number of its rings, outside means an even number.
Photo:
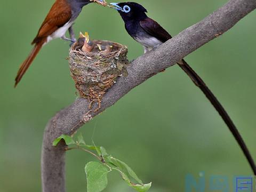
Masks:
[[[53,146],[57,146],[62,139],[68,146],[66,150],[81,149],[99,160],[85,165],[87,192],[100,192],[104,190],[108,185],[107,175],[111,171],[118,171],[127,185],[138,192],[147,192],[151,187],[151,182],[143,184],[130,166],[109,155],[104,147],[95,146],[94,143],[93,145],[87,145],[82,134],[78,135],[76,140],[69,135],[61,135],[53,141]]]

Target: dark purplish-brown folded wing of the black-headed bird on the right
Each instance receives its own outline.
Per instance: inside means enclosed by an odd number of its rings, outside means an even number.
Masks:
[[[163,43],[168,41],[172,36],[159,25],[156,21],[150,18],[146,18],[140,21],[140,26],[150,35],[159,39]]]

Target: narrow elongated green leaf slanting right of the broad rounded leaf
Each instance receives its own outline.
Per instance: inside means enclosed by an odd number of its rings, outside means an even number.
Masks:
[[[129,167],[126,163],[120,161],[119,159],[116,159],[112,156],[108,156],[105,161],[110,164],[114,164],[116,167],[119,168],[121,172],[123,172],[127,177],[132,177],[135,179],[138,183],[143,185],[142,181],[138,178],[137,174]]]

